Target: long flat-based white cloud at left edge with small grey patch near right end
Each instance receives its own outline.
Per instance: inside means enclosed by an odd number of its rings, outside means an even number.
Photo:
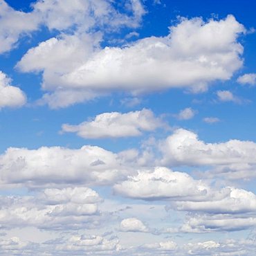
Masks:
[[[5,184],[46,186],[56,184],[104,185],[124,179],[131,167],[118,155],[100,147],[9,148],[0,156],[0,181]]]

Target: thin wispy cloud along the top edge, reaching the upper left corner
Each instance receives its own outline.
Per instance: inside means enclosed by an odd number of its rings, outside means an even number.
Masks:
[[[12,9],[0,1],[0,54],[12,50],[21,36],[29,35],[46,26],[49,30],[61,32],[88,31],[91,28],[104,30],[122,27],[136,28],[145,15],[140,0],[125,1],[127,11],[118,12],[108,0],[38,0],[31,5],[32,11]]]

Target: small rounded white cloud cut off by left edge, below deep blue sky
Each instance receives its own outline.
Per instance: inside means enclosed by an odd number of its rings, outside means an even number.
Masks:
[[[26,95],[18,87],[10,85],[10,78],[0,71],[0,109],[3,107],[21,107],[26,103]]]

